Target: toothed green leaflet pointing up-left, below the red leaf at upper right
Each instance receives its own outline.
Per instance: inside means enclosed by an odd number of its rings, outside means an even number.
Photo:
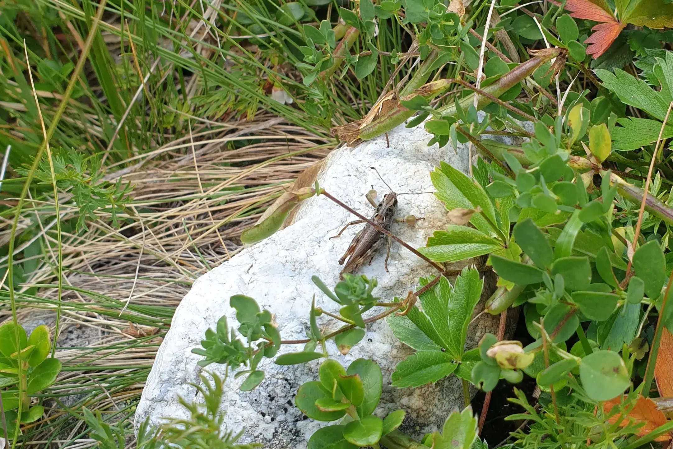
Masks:
[[[650,88],[645,81],[621,69],[614,69],[614,73],[605,69],[596,69],[594,72],[603,81],[604,87],[614,92],[622,102],[664,121],[668,102],[660,92]]]

